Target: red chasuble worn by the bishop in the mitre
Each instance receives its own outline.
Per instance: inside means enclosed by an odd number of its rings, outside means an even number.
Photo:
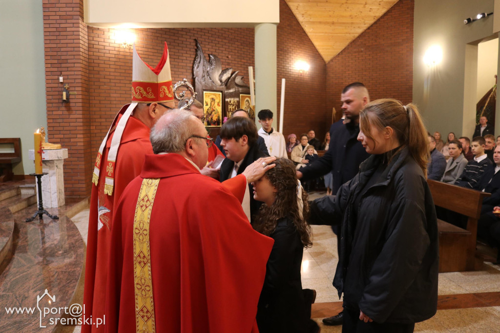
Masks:
[[[101,165],[97,187],[92,184],[83,291],[86,318],[90,315],[92,318],[103,318],[112,215],[126,185],[139,174],[145,154],[152,154],[149,131],[149,127],[140,120],[129,117],[116,154],[112,195],[104,194],[103,190],[107,174],[106,165]],[[102,161],[107,160],[112,136],[113,133],[110,133]],[[81,328],[82,332],[103,331],[103,329],[103,326],[96,328],[90,325],[82,325]]]

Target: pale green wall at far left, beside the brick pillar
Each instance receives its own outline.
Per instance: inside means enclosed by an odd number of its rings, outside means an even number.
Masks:
[[[0,137],[21,138],[22,161],[13,171],[28,174],[33,132],[47,127],[42,3],[0,0],[0,8]]]

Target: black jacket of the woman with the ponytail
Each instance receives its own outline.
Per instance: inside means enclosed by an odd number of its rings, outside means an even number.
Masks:
[[[354,207],[382,158],[372,155],[361,163],[336,196],[314,200],[309,220],[341,223],[333,286],[339,297],[344,293],[345,307],[361,309],[376,322],[418,322],[437,307],[434,202],[421,168],[403,148]]]

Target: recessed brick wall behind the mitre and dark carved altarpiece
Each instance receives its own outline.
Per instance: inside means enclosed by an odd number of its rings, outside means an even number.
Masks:
[[[194,83],[192,62],[196,38],[204,55],[217,55],[222,69],[239,70],[248,83],[248,66],[253,65],[254,43],[252,28],[182,28],[132,29],[135,48],[142,60],[155,67],[163,42],[168,44],[172,82],[187,78]],[[90,117],[92,152],[109,129],[116,112],[130,102],[132,82],[132,49],[114,42],[114,29],[88,26]]]

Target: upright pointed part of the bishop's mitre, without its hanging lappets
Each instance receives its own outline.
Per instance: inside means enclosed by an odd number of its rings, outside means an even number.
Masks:
[[[135,50],[135,45],[133,46],[132,101],[138,103],[173,101],[170,56],[166,42],[156,68],[142,61]]]

